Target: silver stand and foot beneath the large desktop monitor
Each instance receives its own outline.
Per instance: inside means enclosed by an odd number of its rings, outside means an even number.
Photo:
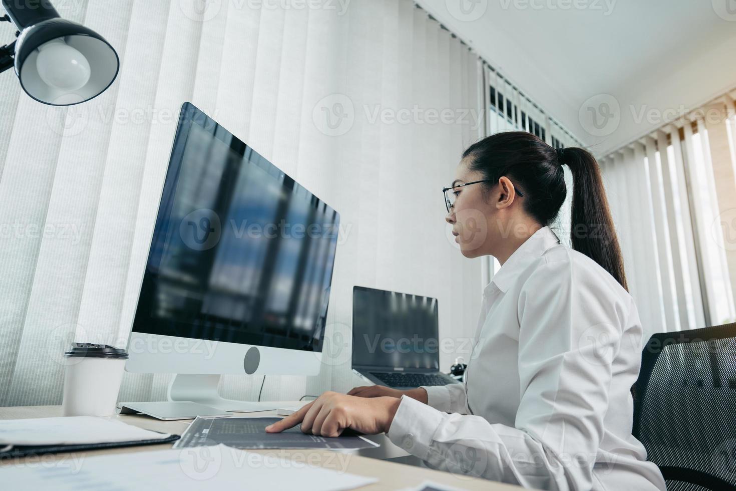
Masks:
[[[219,382],[220,375],[177,373],[169,382],[166,396],[172,402],[191,401],[235,413],[275,411],[279,408],[279,404],[273,402],[250,402],[222,398],[217,392]]]

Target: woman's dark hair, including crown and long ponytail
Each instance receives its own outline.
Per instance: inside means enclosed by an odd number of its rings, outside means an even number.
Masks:
[[[505,132],[484,138],[463,158],[495,186],[508,177],[523,193],[524,210],[542,226],[556,218],[567,196],[566,164],[573,174],[570,235],[573,249],[603,266],[628,290],[621,249],[613,226],[598,162],[581,148],[554,149],[526,132]]]

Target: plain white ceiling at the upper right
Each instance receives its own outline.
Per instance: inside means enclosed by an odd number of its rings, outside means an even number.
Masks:
[[[733,0],[417,3],[598,155],[736,86]]]

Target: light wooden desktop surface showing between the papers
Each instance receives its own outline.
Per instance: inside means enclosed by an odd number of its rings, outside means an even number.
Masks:
[[[283,403],[284,406],[293,406],[296,403]],[[32,417],[56,417],[61,416],[61,406],[25,406],[25,407],[0,407],[0,420],[13,420],[22,418]],[[262,413],[252,414],[254,417],[269,417],[274,416],[272,411],[263,411]],[[144,416],[116,416],[118,420],[135,425],[141,428],[146,428],[154,431],[163,431],[165,433],[182,434],[186,429],[187,425],[191,420],[185,421],[160,421],[153,418]],[[385,437],[383,437],[385,438]],[[390,444],[387,438],[386,442]],[[388,458],[391,458],[392,452],[397,452],[394,456],[401,456],[402,453],[399,448],[392,445],[384,444],[386,447],[383,450],[388,452]],[[82,452],[83,456],[95,456],[102,454],[111,453],[131,453],[131,452],[142,452],[142,451],[155,451],[165,450],[171,448],[171,443],[162,445],[145,445],[142,447],[128,447],[128,448],[112,448],[109,450],[97,450],[97,451],[86,451]],[[249,452],[261,452],[269,453],[273,451],[249,451]],[[330,451],[311,451],[311,450],[284,450],[278,451],[279,456],[285,456],[286,458],[298,459],[298,462],[334,462],[334,455]],[[80,452],[77,452],[79,455]],[[57,458],[63,458],[64,454],[60,453]],[[13,460],[8,459],[3,462],[0,461],[0,468],[5,465],[18,464],[23,459]],[[396,462],[389,462],[387,460],[381,460],[379,458],[369,458],[367,456],[361,456],[357,453],[347,455],[347,458],[342,460],[345,463],[345,467],[341,467],[339,470],[345,472],[357,474],[359,476],[369,476],[378,478],[379,481],[367,487],[360,488],[361,491],[373,491],[373,490],[397,490],[406,487],[416,487],[422,483],[422,481],[434,481],[439,484],[446,484],[447,486],[456,487],[463,490],[486,490],[486,491],[501,491],[501,490],[520,490],[522,488],[516,486],[510,486],[509,484],[499,484],[492,481],[486,481],[484,479],[468,478],[467,476],[456,476],[452,473],[440,472],[438,470],[432,470],[423,467],[414,467],[412,465],[397,464]],[[330,467],[325,464],[323,467]],[[333,467],[334,468],[334,467]]]

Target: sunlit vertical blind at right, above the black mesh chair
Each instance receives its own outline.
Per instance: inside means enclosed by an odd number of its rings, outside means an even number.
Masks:
[[[648,333],[736,319],[736,135],[724,94],[601,159]]]

